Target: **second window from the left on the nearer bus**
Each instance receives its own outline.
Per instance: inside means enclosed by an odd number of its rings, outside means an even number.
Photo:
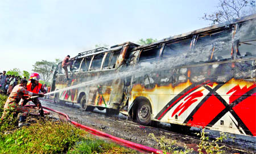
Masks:
[[[191,39],[168,43],[164,46],[162,58],[177,58],[181,54],[190,51],[190,44]]]

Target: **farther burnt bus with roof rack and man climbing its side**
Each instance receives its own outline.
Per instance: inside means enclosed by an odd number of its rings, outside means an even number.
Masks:
[[[139,46],[132,42],[112,46],[110,49],[97,48],[82,52],[72,58],[73,71],[69,71],[67,81],[61,63],[56,67],[53,75],[51,91],[71,87],[77,84],[90,82],[103,78],[109,74],[119,71],[122,65],[126,64],[129,52],[134,47]],[[100,110],[107,109],[108,113],[119,112],[119,106],[123,97],[123,80],[115,78],[112,80],[102,80],[101,83],[88,84],[78,88],[68,89],[55,93],[54,99],[59,104],[73,102],[79,104],[81,110],[93,110],[97,107]]]

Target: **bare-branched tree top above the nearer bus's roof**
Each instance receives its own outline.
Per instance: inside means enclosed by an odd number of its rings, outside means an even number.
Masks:
[[[217,10],[212,14],[205,13],[202,19],[212,24],[223,23],[242,16],[255,13],[255,1],[252,0],[219,0]]]

